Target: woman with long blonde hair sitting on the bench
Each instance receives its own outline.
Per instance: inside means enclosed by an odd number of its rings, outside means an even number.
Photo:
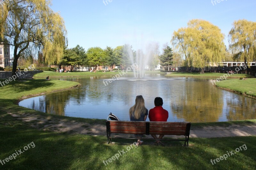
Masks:
[[[133,105],[129,110],[130,121],[146,121],[148,117],[148,109],[145,107],[145,102],[143,97],[136,96],[135,105]],[[136,138],[141,138],[143,135],[134,135]],[[143,141],[138,139],[137,145],[141,145]]]

